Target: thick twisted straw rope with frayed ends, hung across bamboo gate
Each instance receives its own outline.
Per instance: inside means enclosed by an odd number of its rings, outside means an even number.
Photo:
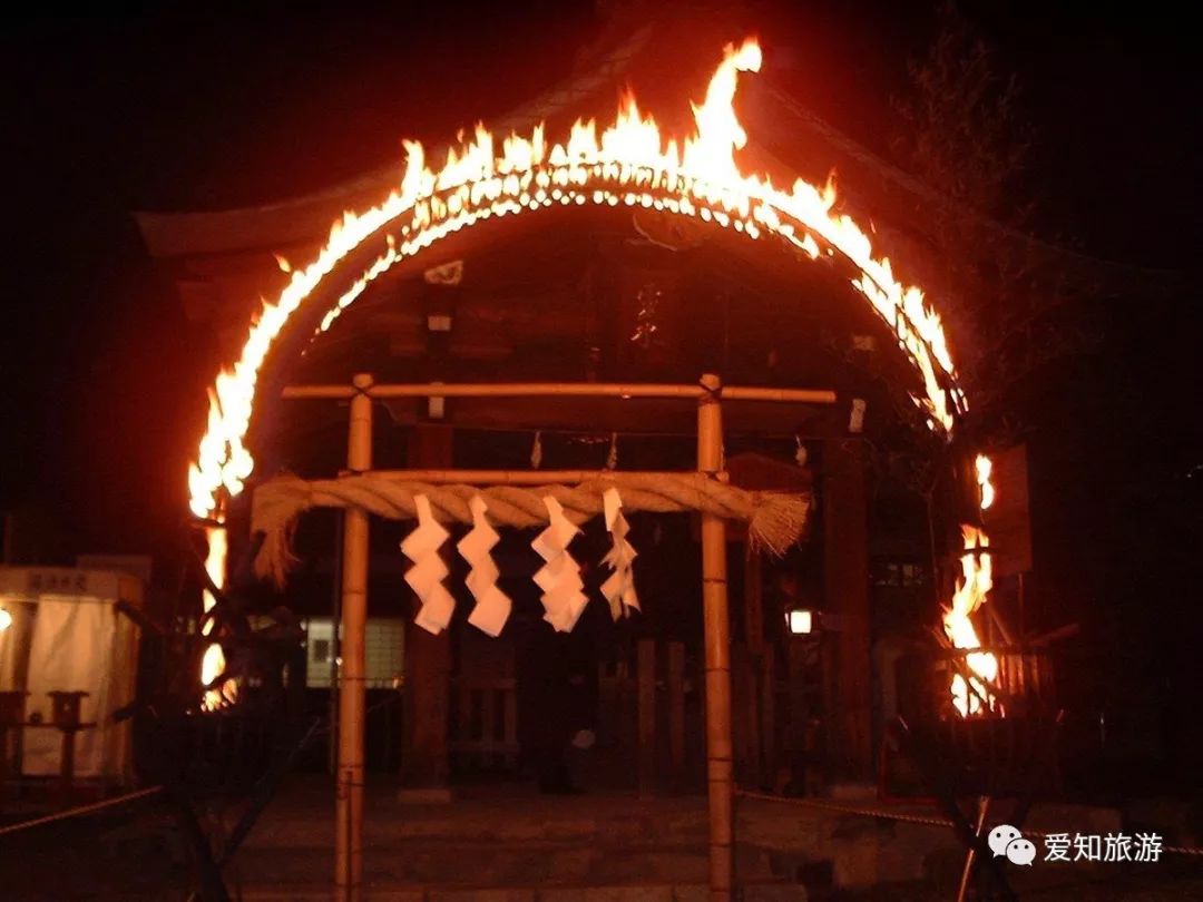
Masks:
[[[414,497],[426,495],[435,520],[472,524],[469,502],[479,494],[492,523],[528,528],[547,522],[543,502],[547,495],[559,502],[569,521],[583,523],[603,514],[603,495],[615,487],[628,511],[701,511],[747,523],[752,545],[775,554],[798,541],[811,506],[805,494],[749,492],[700,473],[603,471],[575,486],[533,487],[432,485],[380,473],[313,481],[278,476],[255,488],[251,532],[265,536],[255,572],[284,583],[296,560],[291,551],[296,518],[312,508],[357,508],[386,520],[413,520]]]

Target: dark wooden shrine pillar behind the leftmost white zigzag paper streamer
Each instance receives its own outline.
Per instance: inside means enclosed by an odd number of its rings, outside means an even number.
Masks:
[[[454,427],[417,423],[410,433],[409,465],[445,469],[452,465]],[[411,601],[413,616],[421,607]],[[402,800],[449,801],[448,725],[451,694],[451,631],[434,636],[425,629],[405,629],[405,689],[401,752]]]

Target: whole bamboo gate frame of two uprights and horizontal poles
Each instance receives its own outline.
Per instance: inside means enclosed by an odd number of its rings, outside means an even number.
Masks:
[[[428,397],[594,397],[677,398],[698,405],[698,475],[727,482],[723,469],[722,402],[834,404],[828,390],[724,387],[713,374],[697,385],[600,382],[375,385],[357,374],[351,385],[306,385],[284,390],[288,399],[349,400],[346,467],[350,475],[373,474],[372,402]],[[389,470],[391,479],[427,485],[474,483],[546,486],[556,476],[582,474],[481,470]],[[598,476],[599,474],[591,474]],[[663,474],[665,479],[680,474]],[[267,483],[269,485],[269,483]],[[259,489],[256,489],[256,495]],[[336,505],[331,505],[336,506]],[[334,830],[334,898],[360,902],[363,883],[363,729],[365,630],[367,624],[368,511],[345,508],[342,568],[342,670],[338,682],[338,775]],[[715,902],[729,902],[734,888],[734,807],[731,772],[730,636],[727,605],[727,541],[723,516],[701,510],[703,619],[705,635],[706,773],[710,808],[710,888]],[[254,517],[253,517],[254,520]],[[279,526],[286,532],[286,526]],[[271,540],[269,540],[271,541]]]

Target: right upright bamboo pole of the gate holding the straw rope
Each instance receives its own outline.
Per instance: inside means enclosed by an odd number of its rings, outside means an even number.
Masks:
[[[722,380],[701,378],[698,400],[698,470],[725,479]],[[706,637],[706,777],[710,788],[710,897],[730,902],[733,891],[731,663],[727,615],[727,530],[722,517],[701,515],[701,593]]]

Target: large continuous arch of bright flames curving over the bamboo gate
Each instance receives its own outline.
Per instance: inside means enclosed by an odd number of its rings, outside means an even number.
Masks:
[[[426,165],[421,144],[404,142],[398,189],[379,206],[348,212],[334,222],[316,259],[292,268],[279,297],[265,302],[237,362],[218,375],[209,393],[208,428],[189,471],[192,512],[217,516],[219,494],[232,498],[242,491],[254,468],[243,441],[263,361],[292,314],[350,251],[387,230],[380,256],[328,309],[319,332],[398,261],[479,221],[553,204],[638,206],[715,222],[752,239],[770,233],[812,260],[838,253],[859,271],[852,285],[894,330],[915,367],[923,391],[914,400],[928,425],[950,433],[954,414],[965,413],[967,404],[940,316],[923,292],[902,285],[890,261],[873,256],[860,226],[832,212],[830,183],[817,188],[798,179],[784,190],[766,176],[740,170],[735,153],[746,146],[747,132],[733,103],[739,73],[755,72],[760,64],[754,41],[725,48],[705,100],[693,106],[697,132],[683,142],[663,136],[633,96],[622,101],[609,127],[599,132],[593,120],[577,120],[568,140],[553,146],[538,125],[527,137],[503,138],[498,154],[496,137],[478,125],[469,143],[448,152],[438,172]]]

